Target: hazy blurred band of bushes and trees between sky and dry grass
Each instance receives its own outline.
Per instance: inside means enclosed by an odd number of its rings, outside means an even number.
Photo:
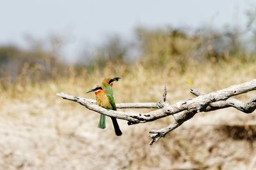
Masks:
[[[173,73],[182,75],[191,71],[191,67],[209,64],[255,63],[256,29],[253,28],[252,13],[248,16],[250,23],[245,31],[230,27],[225,27],[224,31],[139,27],[135,30],[133,42],[111,36],[97,46],[95,52],[84,52],[75,64],[64,62],[60,57],[62,41],[58,36],[50,39],[51,50],[45,50],[42,43],[35,40],[29,50],[0,46],[1,91],[9,90],[15,94],[28,87],[40,86],[45,81],[60,83],[61,78],[86,80],[89,74],[124,76],[144,69],[168,76]],[[136,57],[132,56],[134,53]],[[193,80],[188,82],[193,83]]]

